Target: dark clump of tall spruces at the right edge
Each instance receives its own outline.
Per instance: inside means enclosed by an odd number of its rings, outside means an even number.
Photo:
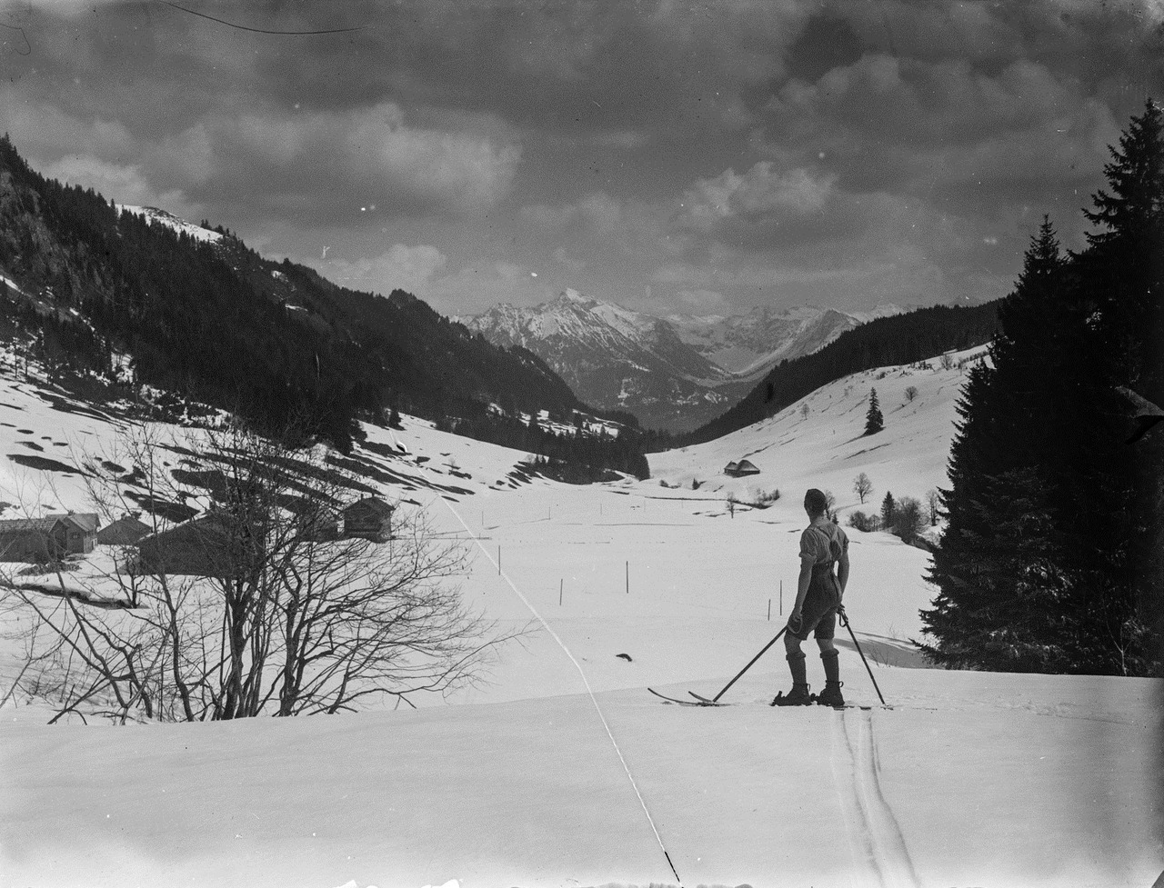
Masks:
[[[1151,102],[1112,149],[1101,229],[1063,257],[1044,220],[971,372],[951,448],[939,592],[946,666],[1157,674],[1164,434],[1124,443],[1121,388],[1159,398],[1164,142]]]

